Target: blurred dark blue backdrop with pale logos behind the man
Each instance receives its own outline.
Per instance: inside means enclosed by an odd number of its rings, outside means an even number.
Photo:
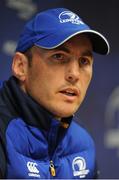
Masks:
[[[99,178],[119,178],[118,0],[0,0],[0,79],[11,75],[12,56],[25,22],[54,7],[73,10],[110,42],[110,55],[94,54],[92,83],[76,117],[94,138]]]

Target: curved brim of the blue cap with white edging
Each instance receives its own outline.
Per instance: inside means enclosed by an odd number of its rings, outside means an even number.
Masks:
[[[34,44],[45,49],[54,49],[78,34],[88,35],[92,42],[94,52],[103,55],[109,53],[110,47],[107,39],[99,32],[90,29],[76,32],[66,31],[62,33],[62,36],[61,32],[57,31],[57,33],[51,33],[42,39],[38,39]]]

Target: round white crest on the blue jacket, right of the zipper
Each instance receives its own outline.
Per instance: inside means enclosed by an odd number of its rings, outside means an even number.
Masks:
[[[83,157],[76,157],[72,162],[73,175],[85,178],[89,173],[89,169],[86,169],[86,161]]]

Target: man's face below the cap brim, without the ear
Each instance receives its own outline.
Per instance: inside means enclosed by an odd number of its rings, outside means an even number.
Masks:
[[[82,103],[92,77],[92,45],[76,36],[53,50],[33,47],[25,91],[56,118],[73,115]]]

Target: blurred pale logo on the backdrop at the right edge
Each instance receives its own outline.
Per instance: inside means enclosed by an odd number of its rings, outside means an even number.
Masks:
[[[104,143],[108,148],[116,148],[119,156],[119,86],[116,87],[107,102],[105,111],[106,133]]]

